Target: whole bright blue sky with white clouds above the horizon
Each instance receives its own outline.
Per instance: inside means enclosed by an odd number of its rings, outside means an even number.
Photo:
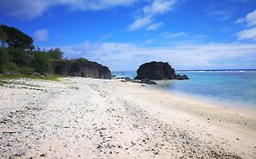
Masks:
[[[111,71],[256,68],[255,0],[0,0],[0,23]]]

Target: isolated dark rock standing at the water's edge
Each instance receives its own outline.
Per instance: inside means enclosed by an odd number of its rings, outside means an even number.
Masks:
[[[150,79],[150,80],[168,80],[178,79],[185,80],[189,79],[187,75],[176,75],[174,68],[169,63],[163,62],[150,62],[140,65],[137,70],[137,76],[135,79]]]

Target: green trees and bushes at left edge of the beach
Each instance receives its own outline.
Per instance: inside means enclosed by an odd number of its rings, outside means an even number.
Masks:
[[[62,61],[63,52],[59,48],[48,51],[35,49],[33,39],[20,30],[0,25],[0,74],[9,75],[11,78],[17,76],[50,75],[62,67],[55,68],[54,63]],[[7,44],[5,47],[5,44]],[[79,69],[78,63],[85,63],[85,59],[79,59],[74,63],[74,69]],[[70,62],[72,63],[72,62]],[[65,71],[65,70],[64,70]],[[3,77],[3,75],[0,75]]]

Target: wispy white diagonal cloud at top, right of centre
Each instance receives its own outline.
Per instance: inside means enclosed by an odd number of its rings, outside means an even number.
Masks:
[[[150,25],[153,21],[152,19],[154,18],[154,16],[162,15],[169,12],[171,9],[173,9],[176,3],[176,0],[154,0],[150,5],[146,5],[143,7],[142,15],[136,17],[134,22],[128,25],[128,31],[134,31],[147,25],[149,25],[147,30],[158,29],[162,25],[161,23]]]

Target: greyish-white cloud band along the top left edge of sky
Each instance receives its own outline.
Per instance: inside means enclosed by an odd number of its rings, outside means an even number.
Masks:
[[[22,19],[32,19],[43,15],[56,5],[67,6],[71,10],[104,10],[116,6],[128,6],[139,0],[1,0],[0,11]]]

